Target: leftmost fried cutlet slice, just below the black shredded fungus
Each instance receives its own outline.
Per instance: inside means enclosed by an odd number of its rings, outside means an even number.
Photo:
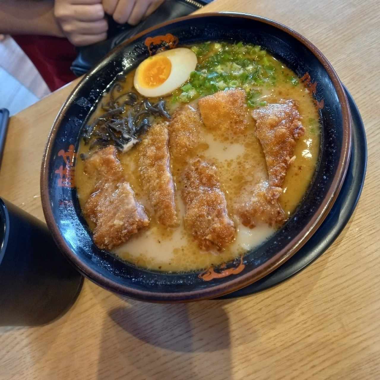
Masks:
[[[123,168],[112,146],[86,160],[85,172],[97,185],[84,205],[83,213],[94,223],[93,241],[100,249],[113,249],[149,224],[144,207],[123,177]]]

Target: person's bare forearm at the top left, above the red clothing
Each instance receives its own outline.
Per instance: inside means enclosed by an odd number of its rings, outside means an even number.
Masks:
[[[63,37],[53,11],[51,0],[0,0],[0,33]]]

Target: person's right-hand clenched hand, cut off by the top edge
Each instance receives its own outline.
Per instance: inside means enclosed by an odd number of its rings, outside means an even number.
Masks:
[[[165,0],[103,0],[103,8],[119,24],[138,24]]]

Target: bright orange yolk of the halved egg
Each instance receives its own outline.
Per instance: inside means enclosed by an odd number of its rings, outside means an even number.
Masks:
[[[171,62],[168,57],[155,55],[146,60],[139,70],[139,82],[143,87],[154,88],[163,84],[171,72]]]

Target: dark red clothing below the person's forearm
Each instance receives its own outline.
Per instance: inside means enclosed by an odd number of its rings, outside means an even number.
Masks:
[[[76,78],[70,70],[75,47],[66,39],[51,36],[12,36],[33,62],[51,91]]]

